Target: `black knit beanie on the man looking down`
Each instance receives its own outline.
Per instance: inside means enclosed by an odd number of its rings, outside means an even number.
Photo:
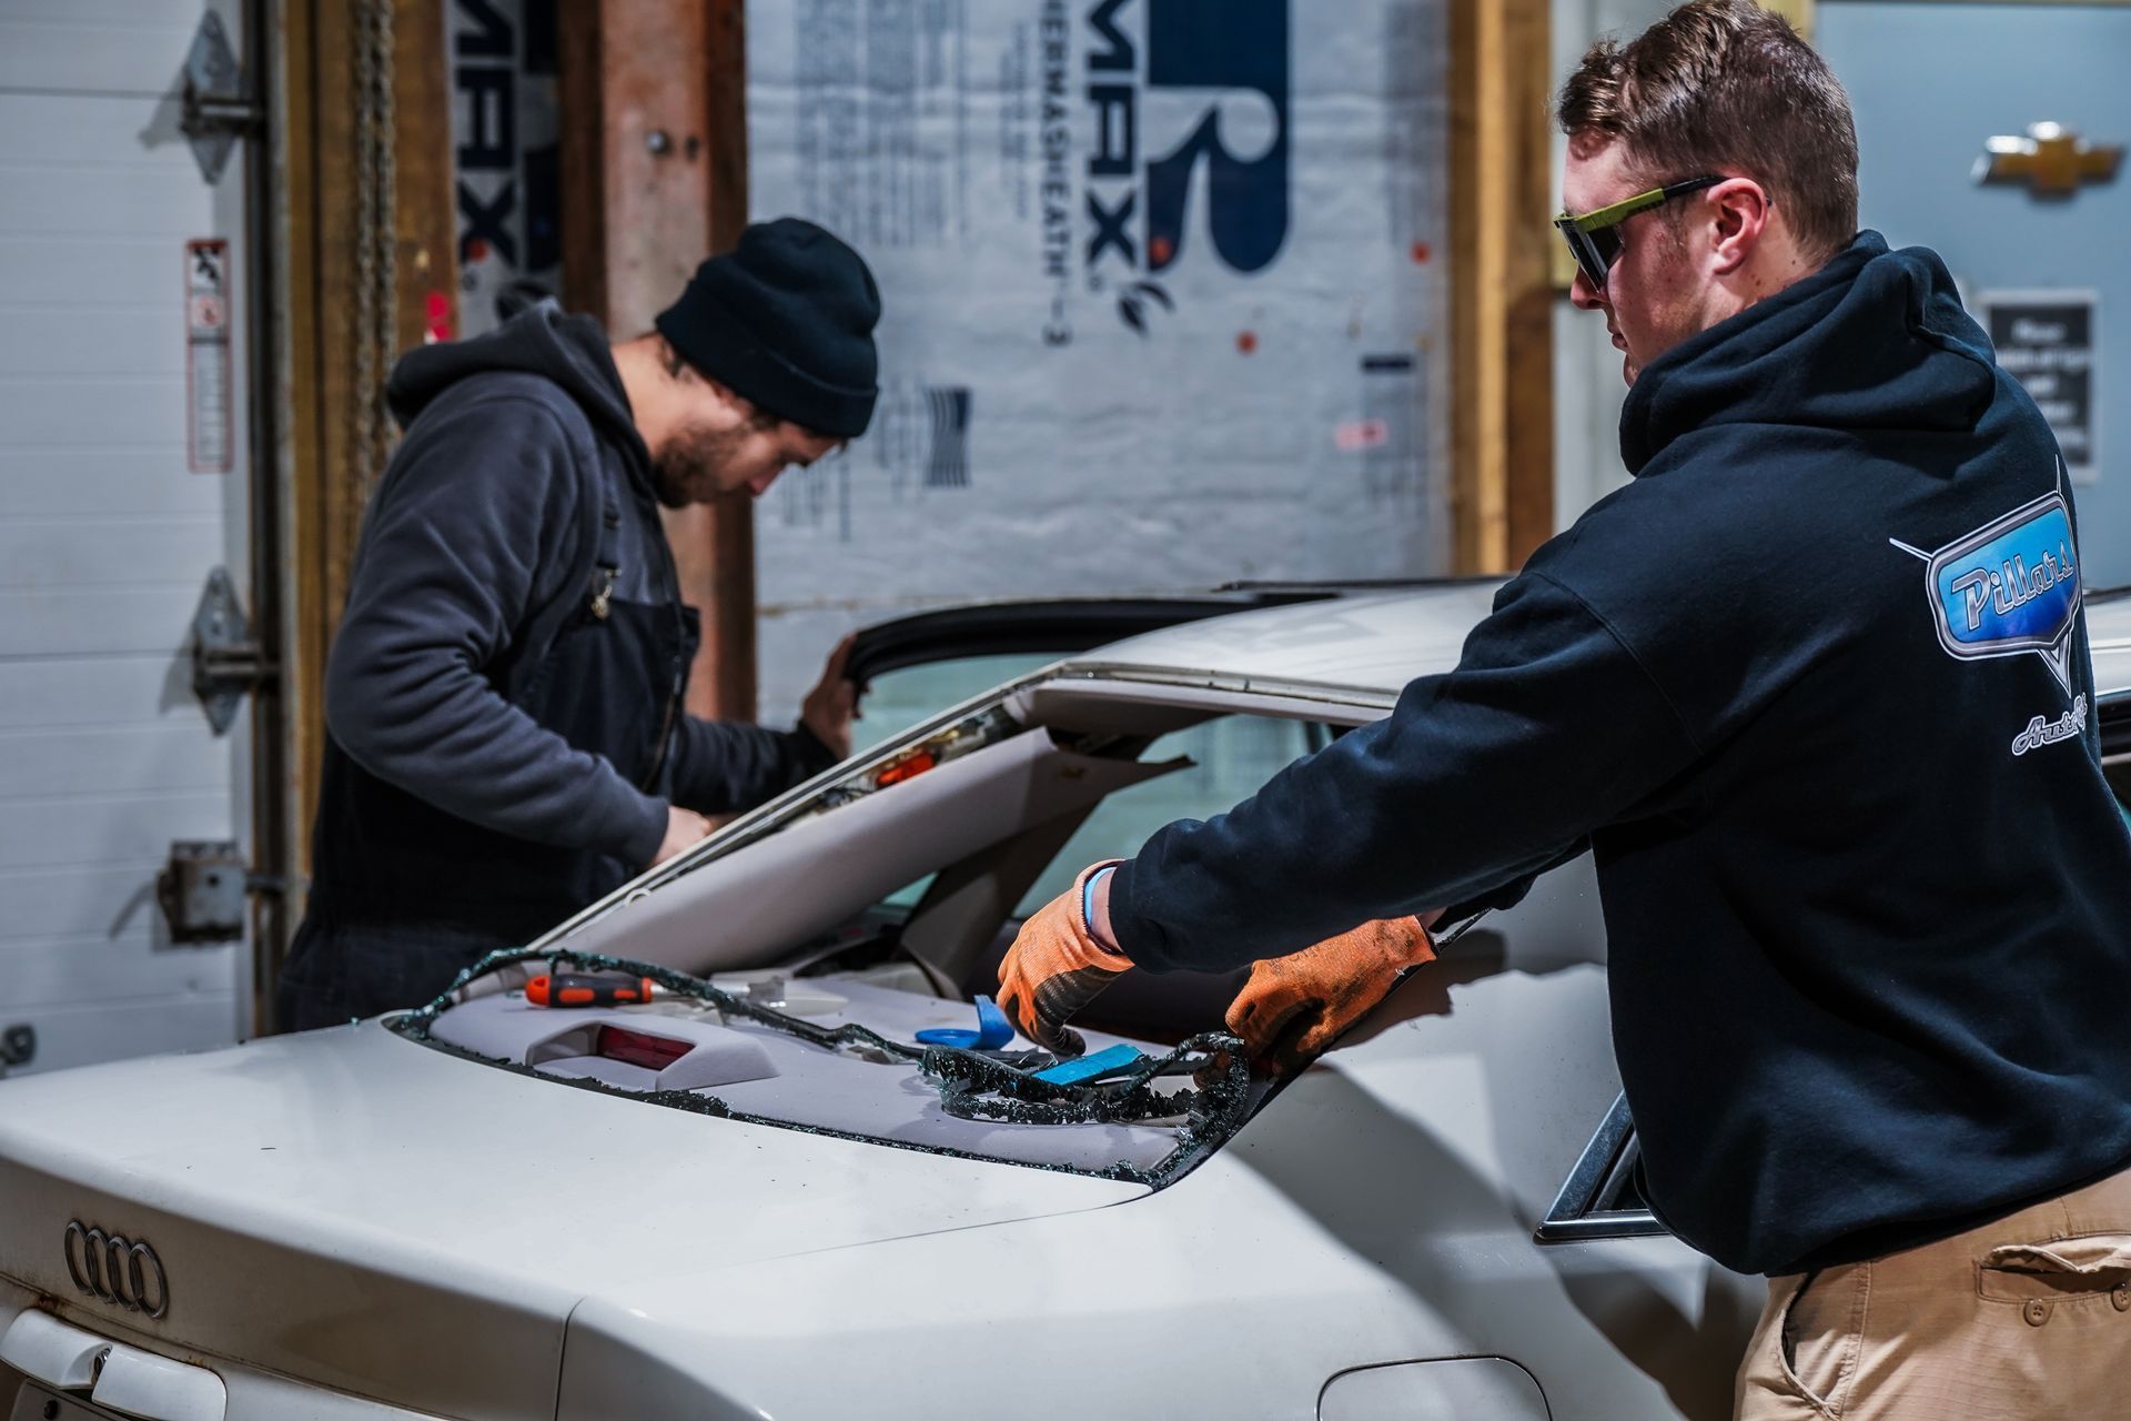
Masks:
[[[816,435],[855,439],[874,418],[880,290],[857,251],[806,222],[757,222],[695,268],[658,313],[682,360]]]

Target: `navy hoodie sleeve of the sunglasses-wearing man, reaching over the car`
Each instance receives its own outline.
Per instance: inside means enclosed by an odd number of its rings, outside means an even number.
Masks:
[[[1694,756],[1607,622],[1528,571],[1387,720],[1155,833],[1110,884],[1110,927],[1140,967],[1225,971],[1370,918],[1513,901]]]

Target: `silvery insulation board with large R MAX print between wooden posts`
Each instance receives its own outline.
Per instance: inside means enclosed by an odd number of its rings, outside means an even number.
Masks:
[[[1443,571],[1447,60],[1445,0],[750,4],[752,215],[882,296],[757,518],[765,714],[893,611]]]

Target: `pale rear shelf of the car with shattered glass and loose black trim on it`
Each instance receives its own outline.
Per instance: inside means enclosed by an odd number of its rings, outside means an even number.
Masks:
[[[648,978],[656,999],[528,1001],[537,974],[563,971]],[[601,952],[516,948],[388,1025],[458,1057],[673,1110],[1149,1189],[1219,1148],[1262,1095],[1240,1042],[1219,1031],[1170,1050],[1134,1046],[1119,1074],[1059,1084],[1038,1074],[1044,1052],[916,1044],[918,1023],[963,1023],[965,1003],[806,978],[778,1010],[733,986]],[[1132,1046],[1095,1035],[1091,1050],[1108,1044]]]

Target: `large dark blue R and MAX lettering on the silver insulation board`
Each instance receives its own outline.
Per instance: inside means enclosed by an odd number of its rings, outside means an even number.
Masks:
[[[1085,0],[1085,162],[1068,168],[1070,45],[1044,6],[1044,341],[1072,341],[1068,294],[1115,298],[1146,334],[1183,262],[1264,271],[1289,219],[1289,0]],[[1078,179],[1078,213],[1070,194]],[[1076,232],[1074,228],[1080,228]]]

